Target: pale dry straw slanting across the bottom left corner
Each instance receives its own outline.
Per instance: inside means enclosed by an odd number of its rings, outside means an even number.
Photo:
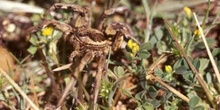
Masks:
[[[14,82],[13,79],[10,78],[10,76],[2,69],[0,68],[0,73],[11,83],[11,85],[21,94],[21,96],[27,100],[27,102],[30,104],[30,106],[34,110],[40,110],[32,101],[31,99],[21,90],[21,88]]]

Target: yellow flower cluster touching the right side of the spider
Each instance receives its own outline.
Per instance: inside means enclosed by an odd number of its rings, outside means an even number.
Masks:
[[[134,57],[135,54],[140,50],[139,45],[131,39],[128,41],[127,47],[131,50],[131,57]]]

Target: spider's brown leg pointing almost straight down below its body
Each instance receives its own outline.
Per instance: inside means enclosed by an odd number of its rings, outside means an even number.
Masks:
[[[97,100],[98,100],[98,95],[99,95],[99,89],[101,87],[101,80],[102,80],[102,75],[105,70],[105,55],[102,54],[99,56],[99,61],[98,61],[98,71],[96,75],[96,85],[95,85],[95,93],[94,93],[94,108],[93,110],[97,110]]]

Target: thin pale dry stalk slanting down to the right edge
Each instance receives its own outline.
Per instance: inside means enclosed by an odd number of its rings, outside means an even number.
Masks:
[[[210,51],[210,49],[209,49],[209,46],[208,46],[208,43],[207,43],[207,41],[206,41],[206,39],[205,39],[205,35],[204,35],[204,33],[203,33],[203,30],[202,30],[201,26],[199,25],[199,22],[198,22],[198,19],[197,19],[197,17],[196,17],[196,14],[193,13],[193,15],[194,15],[194,18],[195,18],[195,20],[196,20],[196,24],[197,24],[197,26],[198,26],[198,28],[199,28],[199,31],[200,31],[200,33],[201,33],[201,37],[202,37],[202,40],[203,40],[203,42],[204,42],[204,44],[205,44],[206,51],[207,51],[207,53],[208,53],[209,59],[210,59],[210,61],[211,61],[211,63],[212,63],[212,67],[213,67],[213,69],[214,69],[214,71],[215,71],[215,75],[216,75],[216,77],[217,77],[218,83],[220,83],[220,75],[219,75],[218,67],[217,67],[217,65],[216,65],[216,63],[215,63],[215,60],[214,60],[214,58],[213,58],[213,56],[212,56],[212,53],[211,53],[211,51]]]

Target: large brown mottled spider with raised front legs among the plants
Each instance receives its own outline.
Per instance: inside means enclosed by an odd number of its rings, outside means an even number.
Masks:
[[[55,9],[71,10],[72,12],[78,13],[77,17],[74,19],[73,26],[69,23],[60,22],[54,19],[47,20],[46,17]],[[70,65],[73,63],[77,64],[73,73],[75,79],[79,77],[79,73],[87,64],[94,59],[98,59],[95,92],[93,95],[94,104],[97,103],[102,74],[105,72],[106,56],[111,54],[110,51],[115,52],[120,48],[124,48],[123,42],[125,39],[130,39],[133,36],[132,30],[126,24],[110,23],[104,25],[106,17],[124,10],[125,8],[117,7],[104,11],[100,17],[97,28],[92,28],[91,12],[88,6],[55,3],[45,12],[43,21],[32,30],[32,32],[35,32],[37,29],[53,26],[55,29],[63,32],[64,39],[67,40],[70,38],[70,42],[73,44],[74,48],[74,51],[69,57]],[[66,86],[63,95],[58,102],[58,106],[62,104],[73,84],[74,78],[72,78]]]

